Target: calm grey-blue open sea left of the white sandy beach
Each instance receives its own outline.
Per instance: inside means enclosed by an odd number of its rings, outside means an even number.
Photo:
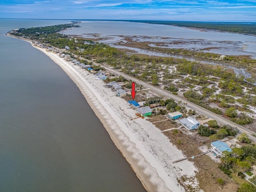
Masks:
[[[0,191],[145,192],[74,82],[0,19]]]

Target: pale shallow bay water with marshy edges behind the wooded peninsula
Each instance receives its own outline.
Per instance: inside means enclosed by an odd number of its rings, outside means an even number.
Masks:
[[[136,41],[149,42],[172,42],[170,48],[186,48],[192,50],[200,50],[202,48],[212,48],[209,52],[227,55],[250,55],[256,59],[256,36],[215,32],[200,31],[189,28],[182,28],[161,24],[120,22],[120,21],[83,21],[81,28],[72,28],[72,30],[64,31],[65,34],[98,34],[100,37],[110,37],[110,40],[102,40],[101,42],[115,46],[123,36],[140,36],[136,37]],[[145,36],[149,38],[145,39]],[[85,35],[88,37],[88,35]],[[159,39],[156,37],[168,37],[172,40]],[[181,42],[178,43],[177,42]],[[137,50],[136,50],[137,51]]]

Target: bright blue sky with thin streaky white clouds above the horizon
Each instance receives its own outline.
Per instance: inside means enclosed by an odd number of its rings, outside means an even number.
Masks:
[[[0,18],[256,22],[256,0],[0,0]]]

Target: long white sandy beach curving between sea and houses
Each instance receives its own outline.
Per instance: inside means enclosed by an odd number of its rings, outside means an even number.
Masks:
[[[75,82],[147,191],[185,192],[177,181],[182,176],[189,178],[185,185],[201,191],[195,178],[195,166],[187,160],[172,164],[184,155],[156,126],[141,118],[130,120],[135,117],[135,110],[87,70],[53,52],[35,48],[49,56]]]

